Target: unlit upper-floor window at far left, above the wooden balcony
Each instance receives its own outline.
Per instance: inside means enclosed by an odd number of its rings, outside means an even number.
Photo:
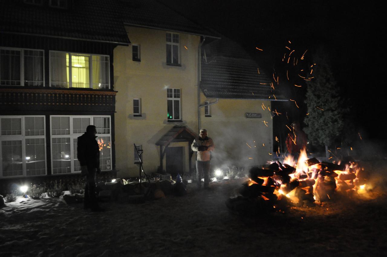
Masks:
[[[1,86],[43,86],[43,50],[0,49]]]

